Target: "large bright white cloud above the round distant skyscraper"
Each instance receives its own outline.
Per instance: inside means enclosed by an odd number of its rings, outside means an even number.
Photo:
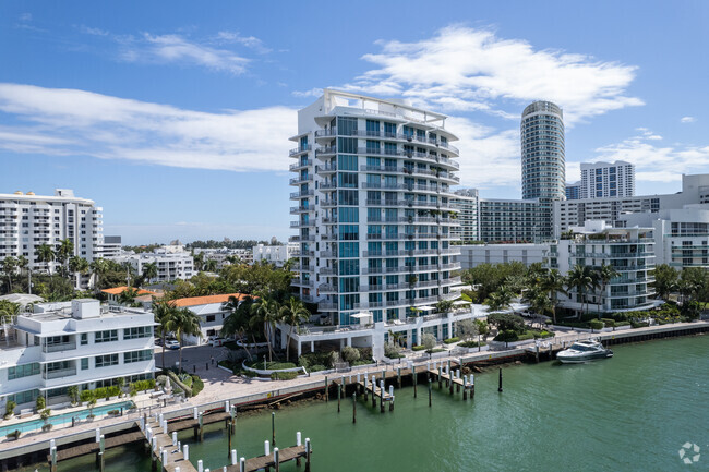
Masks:
[[[404,96],[417,105],[488,111],[518,119],[536,99],[564,108],[567,125],[642,100],[625,94],[636,68],[560,50],[538,50],[490,29],[448,26],[417,43],[377,41],[382,52],[363,56],[375,64],[346,86],[380,96]],[[515,112],[500,109],[504,101]]]

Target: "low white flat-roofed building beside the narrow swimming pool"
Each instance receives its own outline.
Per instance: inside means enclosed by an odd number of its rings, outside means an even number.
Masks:
[[[140,308],[101,306],[77,299],[35,305],[16,316],[9,339],[0,340],[0,408],[17,409],[67,401],[67,389],[80,390],[153,378],[154,316]],[[4,330],[1,331],[4,337]]]

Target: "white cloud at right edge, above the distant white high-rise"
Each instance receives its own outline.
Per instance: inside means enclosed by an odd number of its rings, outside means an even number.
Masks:
[[[707,171],[709,146],[658,146],[652,143],[656,135],[649,130],[638,131],[644,131],[644,134],[596,149],[598,160],[627,160],[634,164],[637,181],[673,182],[681,180],[682,173]]]

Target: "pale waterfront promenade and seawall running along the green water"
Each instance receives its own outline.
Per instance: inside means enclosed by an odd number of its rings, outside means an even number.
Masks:
[[[651,326],[615,332],[610,331],[592,335],[563,335],[555,340],[554,338],[545,340],[553,340],[554,343],[549,344],[548,349],[540,350],[539,362],[553,360],[554,353],[561,350],[565,343],[588,337],[601,338],[601,340],[608,344],[617,344],[625,342],[644,342],[652,339],[665,339],[672,337],[702,336],[705,332],[709,332],[709,322],[706,320],[686,324]],[[448,356],[437,359],[436,362],[441,363],[450,360],[452,363],[456,365],[461,362],[464,368],[469,368],[474,373],[484,374],[488,373],[491,367],[503,367],[538,362],[536,353],[530,350],[530,348],[533,347],[534,343],[531,343],[505,351],[483,351],[480,353],[467,353],[461,358]],[[350,386],[349,388],[352,388],[351,386],[354,384],[354,376],[358,373],[361,375],[364,372],[369,372],[370,375],[375,374],[377,377],[380,377],[384,372],[387,385],[394,385],[398,388],[398,374],[400,371],[400,385],[402,387],[411,386],[412,374],[408,368],[408,364],[411,361],[416,361],[413,365],[417,366],[417,371],[421,368],[421,371],[418,371],[417,373],[419,377],[419,384],[421,384],[421,376],[423,375],[425,377],[426,363],[426,360],[422,358],[406,361],[402,360],[402,362],[398,364],[395,363],[381,365],[376,368],[370,367],[368,370],[352,370],[348,373],[331,376],[319,376],[313,374],[311,377],[301,377],[293,380],[260,383],[249,382],[248,379],[230,376],[230,384],[236,384],[233,385],[235,387],[240,386],[241,388],[238,389],[241,391],[252,390],[253,394],[235,397],[232,395],[229,395],[229,391],[225,391],[220,398],[216,398],[214,401],[204,401],[205,398],[200,399],[199,397],[195,397],[192,398],[189,402],[178,406],[169,406],[167,408],[147,407],[137,413],[128,414],[125,416],[118,416],[110,420],[101,420],[89,425],[82,425],[84,427],[79,432],[76,432],[76,428],[58,428],[47,433],[28,434],[24,438],[21,437],[16,441],[2,440],[3,450],[0,451],[0,470],[13,470],[17,467],[46,463],[46,453],[49,448],[50,439],[56,440],[58,448],[64,449],[72,447],[72,445],[75,444],[91,441],[95,435],[95,429],[97,427],[100,427],[101,433],[104,433],[107,437],[117,436],[125,432],[130,432],[131,429],[135,429],[135,423],[143,413],[163,413],[165,414],[166,419],[177,419],[180,416],[180,414],[184,415],[185,412],[190,413],[193,408],[197,408],[200,411],[214,410],[219,408],[224,409],[225,401],[229,400],[230,404],[237,406],[240,415],[251,416],[262,414],[264,410],[290,409],[303,407],[314,401],[325,401],[323,397],[325,396],[326,383],[331,392],[329,400],[336,401],[337,384],[345,379],[346,388],[348,388],[348,386]],[[464,371],[464,373],[466,372]],[[350,382],[347,382],[347,379]],[[16,446],[13,443],[17,443]]]

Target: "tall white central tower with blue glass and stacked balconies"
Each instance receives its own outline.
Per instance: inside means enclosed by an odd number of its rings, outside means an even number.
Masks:
[[[293,286],[332,324],[359,323],[360,312],[374,323],[405,320],[454,298],[460,265],[450,185],[459,165],[445,119],[328,89],[298,112]]]

